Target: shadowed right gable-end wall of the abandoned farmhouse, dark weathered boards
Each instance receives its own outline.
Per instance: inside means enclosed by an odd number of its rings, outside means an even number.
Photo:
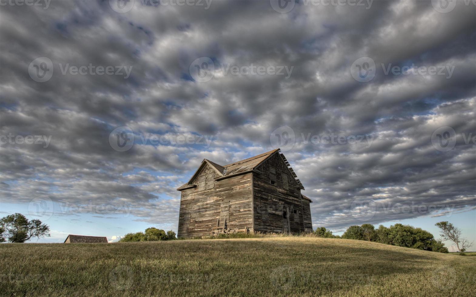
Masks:
[[[305,222],[310,222],[309,201],[301,198],[301,189],[280,155],[274,154],[256,171],[253,172],[254,231],[311,232],[312,226],[305,228]]]

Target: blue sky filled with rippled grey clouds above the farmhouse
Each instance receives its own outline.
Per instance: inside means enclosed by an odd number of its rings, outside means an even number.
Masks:
[[[0,4],[0,215],[45,242],[176,230],[203,158],[278,147],[314,228],[475,237],[472,2]]]

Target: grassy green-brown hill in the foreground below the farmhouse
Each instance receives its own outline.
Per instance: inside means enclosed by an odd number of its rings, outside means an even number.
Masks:
[[[475,296],[476,257],[326,238],[2,244],[0,294]]]

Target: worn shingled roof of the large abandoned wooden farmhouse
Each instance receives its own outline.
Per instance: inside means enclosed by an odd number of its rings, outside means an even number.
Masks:
[[[208,159],[203,159],[202,163],[198,167],[197,171],[195,171],[193,176],[190,178],[190,180],[188,180],[188,182],[186,184],[177,188],[177,190],[180,191],[180,190],[184,190],[186,188],[196,187],[197,185],[193,184],[192,181],[200,173],[201,168],[203,168],[203,166],[205,166],[206,164],[210,165],[212,168],[214,168],[217,171],[219,177],[216,178],[216,179],[218,180],[218,179],[227,178],[229,176],[238,175],[238,174],[241,174],[241,173],[252,171],[253,169],[257,168],[261,163],[263,163],[266,159],[268,159],[273,154],[278,153],[278,152],[279,152],[279,148],[273,149],[273,150],[270,150],[266,153],[262,153],[258,156],[247,158],[247,159],[244,159],[244,160],[241,160],[241,161],[238,161],[238,162],[234,162],[234,163],[231,163],[231,164],[228,164],[228,165],[225,165],[225,166],[221,166],[221,165],[219,165],[215,162],[212,162]],[[280,156],[283,158],[283,160],[289,166],[288,160],[286,160],[284,155],[280,154]],[[294,173],[293,169],[290,168],[290,167],[288,167],[288,168],[290,169],[291,174],[293,175],[293,177],[296,178],[296,181],[299,184],[299,186],[302,189],[304,189],[304,187],[302,187],[302,184],[299,181],[299,179],[297,179],[296,174]],[[307,199],[310,200],[309,198],[307,198]]]

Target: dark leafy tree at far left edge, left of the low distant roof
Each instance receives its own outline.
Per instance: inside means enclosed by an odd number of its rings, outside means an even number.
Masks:
[[[0,226],[3,229],[1,234],[5,233],[5,237],[9,242],[23,243],[31,238],[50,237],[50,227],[42,224],[39,219],[25,218],[20,213],[6,216],[0,220]],[[3,238],[3,235],[0,236]],[[4,239],[3,239],[4,240]]]

